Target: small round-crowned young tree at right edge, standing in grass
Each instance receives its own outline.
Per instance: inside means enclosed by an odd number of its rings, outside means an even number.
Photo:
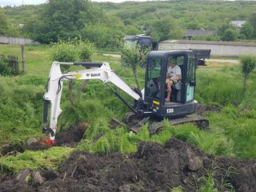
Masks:
[[[256,66],[256,57],[255,56],[242,56],[239,58],[240,61],[240,69],[243,75],[243,90],[246,91],[246,81],[252,70],[254,70]]]

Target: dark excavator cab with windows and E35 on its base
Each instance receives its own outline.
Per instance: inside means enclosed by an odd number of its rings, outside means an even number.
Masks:
[[[181,69],[182,78],[172,85],[170,102],[166,102],[166,74],[170,60]],[[144,102],[154,116],[178,118],[197,110],[198,102],[194,100],[196,69],[196,55],[190,50],[151,51],[148,54]]]

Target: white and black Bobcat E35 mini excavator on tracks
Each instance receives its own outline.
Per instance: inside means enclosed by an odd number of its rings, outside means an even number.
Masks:
[[[166,73],[170,59],[181,68],[182,78],[173,85],[170,102],[166,102]],[[84,66],[86,69],[62,74],[61,65]],[[108,62],[53,62],[44,94],[42,133],[49,135],[46,144],[54,144],[58,116],[62,113],[60,108],[62,86],[65,80],[70,79],[98,79],[105,83],[131,110],[126,115],[126,123],[134,132],[137,132],[142,123],[149,118],[158,122],[163,118],[169,118],[171,125],[195,122],[206,128],[209,125],[208,120],[193,115],[198,110],[198,102],[194,99],[197,68],[196,54],[191,50],[150,51],[146,58],[145,87],[143,90],[138,90],[118,77],[114,70],[111,70]],[[118,91],[114,90],[113,84],[134,98],[134,103],[127,102]],[[48,108],[50,108],[50,117],[48,117]],[[150,134],[156,133],[159,128],[161,128],[159,123],[152,123]]]

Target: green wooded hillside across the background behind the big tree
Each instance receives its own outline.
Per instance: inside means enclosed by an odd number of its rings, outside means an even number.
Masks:
[[[162,41],[170,38],[184,38],[186,30],[201,29],[217,30],[218,35],[195,38],[218,41],[241,41],[256,38],[256,33],[252,31],[256,29],[256,23],[254,22],[256,17],[254,14],[254,10],[256,10],[255,1],[91,2],[91,4],[98,7],[100,9],[98,11],[102,11],[106,15],[103,16],[104,19],[107,18],[112,21],[103,21],[104,25],[101,30],[110,34],[112,31],[117,30],[116,27],[119,27],[119,32],[122,34],[118,34],[115,31],[115,42],[110,42],[114,46],[120,46],[120,42],[117,43],[117,41],[120,41],[125,34],[146,33],[153,36],[156,41]],[[20,35],[26,34],[28,37],[37,38],[34,37],[36,36],[33,34],[34,29],[32,28],[31,30],[30,27],[35,27],[33,23],[36,22],[34,21],[42,20],[40,17],[44,12],[45,6],[46,4],[5,7],[0,10],[6,14],[11,23],[25,24],[25,30],[22,30]],[[62,10],[62,14],[64,12],[65,10]],[[97,17],[98,14],[95,14],[91,18]],[[230,21],[233,20],[244,20],[250,23],[250,26],[246,26],[241,31],[235,30],[234,27],[229,26]],[[102,18],[99,18],[98,22],[100,21],[102,21]],[[102,38],[102,34],[98,30],[100,28],[98,22],[90,25],[90,28],[95,28],[95,30],[81,30],[78,34],[90,41],[98,40],[92,38],[90,33],[93,33],[97,38]],[[114,28],[114,25],[117,26]],[[74,31],[74,33],[77,32]],[[65,33],[62,32],[61,34]],[[231,38],[230,35],[232,36]],[[96,43],[98,46],[106,47],[106,45],[101,45],[100,43],[104,39],[98,41]]]

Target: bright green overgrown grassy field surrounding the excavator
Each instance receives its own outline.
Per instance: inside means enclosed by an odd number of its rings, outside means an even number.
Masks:
[[[19,46],[0,46],[2,54],[20,54]],[[24,141],[31,136],[39,137],[42,127],[42,96],[50,70],[50,46],[26,46],[26,74],[19,77],[0,77],[0,145],[1,143]],[[116,73],[130,85],[135,85],[130,69],[120,65],[120,58],[94,54],[95,62],[110,62]],[[141,83],[144,70],[138,71]],[[82,99],[76,101],[78,107],[70,106],[67,86],[62,94],[63,113],[58,126],[67,127],[76,122],[89,122],[84,139],[73,150],[90,150],[107,154],[112,151],[131,153],[137,150],[138,142],[154,141],[165,143],[176,137],[190,142],[210,154],[238,158],[256,158],[256,97],[255,73],[250,75],[248,90],[242,91],[242,75],[238,64],[207,63],[198,68],[196,98],[204,105],[216,106],[220,110],[205,115],[210,120],[210,129],[203,131],[191,124],[170,126],[168,123],[160,134],[150,136],[146,126],[138,134],[129,133],[126,128],[110,129],[110,119],[122,119],[127,107],[115,98],[102,84],[91,81],[82,92]],[[75,87],[79,85],[76,82]],[[75,92],[76,94],[76,92]],[[128,100],[132,101],[124,94]],[[94,138],[102,137],[94,142]],[[31,153],[26,151],[16,157],[0,158],[0,165],[17,172],[27,167],[43,169],[47,165],[56,167],[62,158],[59,148],[52,148],[57,155],[53,161],[41,161],[48,150]],[[66,149],[69,153],[70,148]],[[58,157],[59,156],[59,157]],[[32,160],[31,160],[32,159]],[[25,161],[25,162],[21,162]],[[17,163],[16,163],[17,162]],[[1,171],[1,170],[0,170]],[[6,171],[6,170],[5,170]]]

